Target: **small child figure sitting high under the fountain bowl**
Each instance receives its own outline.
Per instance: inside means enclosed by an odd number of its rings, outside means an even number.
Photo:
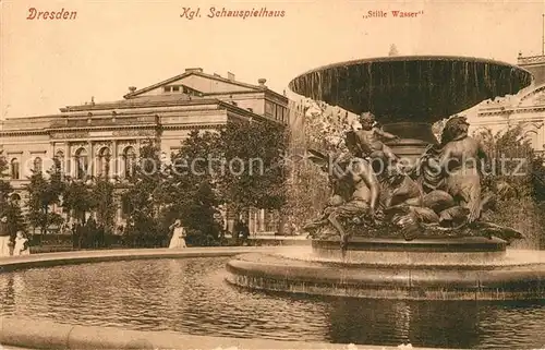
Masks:
[[[354,131],[359,156],[396,162],[399,159],[398,156],[383,143],[382,138],[397,141],[399,137],[376,128],[375,116],[370,112],[360,116],[360,123],[362,128]]]

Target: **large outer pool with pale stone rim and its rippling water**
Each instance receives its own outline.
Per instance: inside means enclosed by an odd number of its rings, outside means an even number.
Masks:
[[[296,251],[190,248],[0,260],[0,266],[10,265],[0,273],[0,343],[28,349],[390,349],[409,342],[414,349],[536,349],[544,343],[542,302],[300,298],[225,283],[228,255]]]

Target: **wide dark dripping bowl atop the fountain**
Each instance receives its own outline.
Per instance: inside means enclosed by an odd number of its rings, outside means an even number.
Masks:
[[[433,123],[532,83],[519,67],[456,56],[393,56],[314,69],[293,79],[294,93],[354,113],[371,111],[383,124]]]

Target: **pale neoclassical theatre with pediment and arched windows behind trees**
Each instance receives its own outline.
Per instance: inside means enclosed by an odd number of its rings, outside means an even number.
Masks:
[[[257,84],[186,69],[144,88],[129,87],[123,99],[60,108],[52,116],[13,118],[0,123],[0,145],[10,164],[11,183],[20,197],[32,169],[46,171],[53,158],[64,173],[85,179],[123,179],[143,143],[155,140],[169,161],[190,131],[214,130],[231,120],[269,120],[289,124],[290,101],[259,79]],[[121,216],[121,213],[120,213]],[[251,229],[274,229],[265,213],[253,214]]]

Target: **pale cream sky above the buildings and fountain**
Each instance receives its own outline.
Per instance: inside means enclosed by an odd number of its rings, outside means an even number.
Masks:
[[[279,17],[208,17],[209,9],[284,11]],[[75,20],[28,20],[76,11]],[[201,17],[181,16],[183,8]],[[392,17],[391,11],[416,12]],[[365,17],[384,11],[386,17]],[[376,12],[375,12],[376,13]],[[400,55],[453,55],[517,62],[541,55],[545,1],[0,0],[0,119],[58,113],[122,99],[203,68],[281,93],[329,63]]]

